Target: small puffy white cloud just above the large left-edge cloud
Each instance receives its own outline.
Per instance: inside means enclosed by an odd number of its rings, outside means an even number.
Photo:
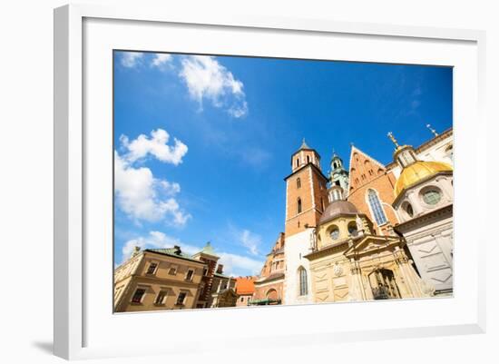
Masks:
[[[151,138],[141,134],[132,142],[125,135],[120,137],[122,146],[128,150],[125,155],[128,162],[138,161],[151,154],[161,162],[178,165],[188,151],[187,145],[176,138],[173,145],[168,145],[169,140],[170,134],[162,129],[153,130]]]

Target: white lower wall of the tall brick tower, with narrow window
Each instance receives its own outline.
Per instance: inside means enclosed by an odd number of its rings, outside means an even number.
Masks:
[[[284,251],[286,257],[286,279],[284,280],[284,304],[312,303],[312,282],[309,261],[305,258],[310,252],[310,238],[314,229],[310,228],[298,234],[286,237]],[[299,296],[298,268],[307,271],[308,295]]]

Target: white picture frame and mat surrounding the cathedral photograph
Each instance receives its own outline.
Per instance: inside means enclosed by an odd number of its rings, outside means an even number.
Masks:
[[[85,23],[86,22],[86,23]],[[192,310],[185,312],[159,312],[140,313],[133,315],[114,315],[112,310],[99,317],[96,313],[95,304],[88,303],[88,296],[93,298],[102,292],[97,300],[103,302],[112,300],[112,280],[109,271],[105,271],[107,262],[98,261],[94,258],[95,250],[88,249],[85,245],[89,238],[93,238],[92,231],[88,230],[89,222],[86,213],[89,209],[95,209],[93,203],[93,188],[95,181],[88,180],[88,174],[92,170],[89,160],[99,154],[99,147],[93,150],[88,142],[92,139],[95,145],[111,143],[111,139],[99,139],[94,129],[87,129],[84,124],[84,115],[93,114],[93,93],[84,93],[85,87],[93,87],[92,79],[85,79],[84,72],[93,73],[93,58],[85,54],[89,47],[93,46],[96,37],[102,38],[99,46],[109,46],[122,49],[138,49],[164,51],[156,49],[153,40],[141,46],[143,35],[152,31],[152,27],[175,26],[181,32],[196,29],[197,32],[215,32],[220,39],[224,34],[238,32],[239,36],[247,37],[249,43],[251,38],[255,39],[258,34],[272,35],[276,37],[292,36],[297,40],[302,35],[308,39],[315,37],[349,37],[349,41],[360,42],[368,38],[369,42],[395,42],[399,45],[398,58],[386,52],[383,54],[362,55],[365,49],[358,49],[357,54],[346,54],[344,59],[364,62],[426,62],[427,64],[445,64],[455,66],[456,70],[463,69],[463,78],[458,78],[455,83],[455,201],[458,206],[455,213],[455,297],[447,300],[414,300],[399,302],[366,302],[351,304],[328,304],[308,305],[279,308],[255,308],[244,310]],[[135,38],[129,36],[126,42],[120,41],[116,45],[111,39],[115,34],[126,33],[127,27],[134,27]],[[166,29],[165,28],[165,29]],[[110,29],[116,29],[116,32]],[[118,31],[119,29],[119,31]],[[159,28],[154,28],[159,29]],[[161,28],[162,29],[162,28]],[[85,37],[85,31],[88,37]],[[169,30],[164,30],[168,32]],[[102,33],[99,33],[102,32]],[[144,32],[144,33],[142,33]],[[258,33],[258,34],[257,34]],[[199,33],[198,33],[199,34]],[[322,38],[321,38],[322,39]],[[194,39],[185,38],[189,43]],[[485,121],[484,121],[484,40],[485,34],[475,30],[439,29],[418,26],[396,26],[377,24],[355,24],[341,23],[324,19],[291,19],[291,18],[266,18],[264,16],[246,15],[200,15],[195,13],[181,14],[170,13],[168,7],[151,9],[136,7],[103,7],[99,5],[66,5],[54,11],[54,353],[64,359],[88,359],[100,357],[131,356],[141,354],[174,354],[189,348],[191,352],[209,351],[210,345],[202,344],[185,335],[183,339],[171,341],[168,345],[161,345],[160,341],[135,340],[134,345],[121,341],[118,332],[123,328],[136,325],[138,321],[145,324],[154,322],[155,328],[161,328],[161,322],[167,322],[177,332],[191,333],[189,328],[181,325],[191,325],[193,322],[206,320],[208,325],[220,324],[220,340],[233,347],[237,347],[238,340],[244,339],[244,347],[248,347],[249,340],[253,346],[267,347],[269,345],[304,345],[308,343],[320,343],[328,345],[330,342],[341,342],[349,340],[372,339],[394,339],[394,338],[416,338],[435,335],[455,335],[465,333],[483,333],[485,330],[485,284],[484,284],[484,227],[477,229],[475,235],[471,235],[469,229],[465,228],[466,219],[470,218],[470,211],[466,209],[474,201],[483,203],[486,201],[486,189],[478,188],[478,182],[473,181],[473,176],[463,172],[462,165],[475,163],[475,168],[480,171],[484,168],[483,161],[478,157],[485,150]],[[214,39],[217,42],[217,39]],[[107,42],[107,43],[106,43]],[[145,41],[144,41],[145,42]],[[229,42],[229,41],[228,41]],[[422,54],[427,57],[426,61],[417,60],[414,54],[410,54],[404,46],[410,42],[411,47],[422,47]],[[98,42],[94,42],[98,43]],[[123,48],[123,44],[125,47]],[[286,42],[285,42],[286,44]],[[299,42],[297,43],[299,44]],[[433,45],[432,45],[433,44]],[[447,44],[449,52],[442,56],[443,61],[432,61],[431,50],[442,48]],[[381,44],[382,45],[382,44]],[[188,45],[186,45],[188,46]],[[195,46],[195,45],[193,45]],[[207,45],[208,46],[208,45]],[[261,45],[261,49],[264,48]],[[289,54],[297,56],[299,52],[314,52],[313,42],[310,50],[296,49],[296,53]],[[393,44],[391,45],[393,48]],[[431,48],[426,49],[426,46]],[[446,46],[446,45],[445,45]],[[142,48],[143,47],[143,48]],[[153,47],[154,49],[150,49]],[[198,44],[201,48],[201,45]],[[242,46],[241,46],[242,47]],[[433,47],[433,48],[432,48]],[[453,48],[454,47],[454,48]],[[216,47],[215,47],[216,48]],[[215,49],[213,48],[213,49]],[[341,44],[339,44],[341,48]],[[359,47],[361,48],[361,47]],[[437,49],[438,48],[438,49]],[[347,48],[346,48],[347,49]],[[426,49],[426,50],[425,50]],[[175,49],[178,50],[178,49]],[[174,51],[175,51],[174,50]],[[199,53],[204,53],[200,49]],[[389,48],[386,48],[388,51]],[[351,49],[350,51],[354,51]],[[356,52],[357,52],[356,51]],[[106,51],[107,52],[107,51]],[[229,52],[229,51],[228,51]],[[232,54],[253,54],[254,50],[243,48],[230,50]],[[235,52],[235,53],[234,53]],[[269,52],[269,48],[267,51]],[[276,51],[279,52],[279,51]],[[283,51],[286,52],[286,51]],[[295,51],[293,51],[295,52]],[[325,54],[327,50],[316,48],[318,57],[329,57]],[[339,51],[338,51],[339,52]],[[404,52],[407,54],[404,55]],[[88,52],[97,54],[96,52]],[[210,53],[210,51],[208,51]],[[291,52],[290,52],[291,53]],[[270,54],[272,55],[272,54]],[[341,54],[340,54],[341,55]],[[309,56],[309,54],[308,54]],[[434,57],[436,55],[433,55]],[[459,59],[461,59],[459,61]],[[328,58],[329,59],[329,58]],[[335,58],[336,59],[336,58]],[[468,60],[468,61],[466,61]],[[459,62],[463,62],[460,64]],[[468,63],[466,63],[468,62]],[[87,64],[85,64],[87,63]],[[109,62],[111,64],[111,62]],[[85,68],[86,67],[86,68]],[[88,68],[90,67],[90,69]],[[85,71],[87,70],[87,71]],[[459,71],[460,72],[460,71]],[[109,74],[106,74],[108,77]],[[89,74],[86,74],[86,77]],[[107,78],[106,78],[107,79]],[[470,90],[461,87],[464,81],[471,83]],[[104,80],[105,82],[105,80]],[[90,85],[88,83],[91,83]],[[460,88],[461,87],[461,88]],[[463,93],[462,93],[463,92]],[[100,95],[101,96],[101,95]],[[104,98],[110,97],[104,92]],[[88,100],[87,100],[88,99]],[[90,105],[90,106],[89,106]],[[111,105],[109,105],[111,107]],[[103,113],[105,115],[105,113]],[[459,117],[462,116],[462,117]],[[459,117],[459,118],[458,118]],[[112,123],[112,120],[104,119],[104,123]],[[473,123],[470,125],[471,121]],[[105,134],[105,133],[104,133]],[[463,152],[466,151],[466,152]],[[99,168],[105,168],[105,162]],[[89,170],[90,169],[90,170]],[[112,173],[113,171],[109,171]],[[93,171],[90,171],[92,175]],[[105,179],[104,179],[105,180]],[[107,180],[105,180],[107,181]],[[467,193],[464,193],[467,191]],[[95,196],[94,196],[95,197]],[[101,196],[102,197],[102,196]],[[105,198],[109,197],[104,195]],[[106,201],[106,199],[103,201]],[[106,202],[107,203],[107,202]],[[484,211],[485,209],[482,209]],[[111,213],[111,210],[104,213]],[[103,212],[99,212],[103,213]],[[86,220],[85,220],[86,219]],[[105,216],[104,216],[105,220]],[[90,225],[92,223],[90,222]],[[477,221],[477,224],[484,224]],[[102,231],[101,231],[102,234]],[[108,235],[101,235],[103,237]],[[473,241],[474,244],[460,245],[459,241]],[[94,240],[93,240],[94,241]],[[109,245],[112,241],[109,241]],[[462,253],[459,249],[462,248]],[[103,254],[109,252],[109,248],[103,248]],[[96,267],[92,274],[85,271],[88,261],[94,261]],[[93,281],[96,275],[102,275],[104,283],[99,289],[94,288]],[[109,290],[109,292],[107,292]],[[106,293],[107,292],[107,293]],[[429,303],[428,303],[429,302]],[[99,303],[99,302],[97,302]],[[102,303],[102,302],[101,302]],[[431,305],[437,312],[433,317],[418,316],[417,312],[428,310]],[[364,320],[362,322],[347,321],[338,325],[329,325],[326,328],[314,326],[312,323],[305,325],[303,320],[297,320],[296,325],[285,324],[286,318],[293,317],[323,317],[329,318],[331,314],[338,313],[339,316],[347,316],[347,310],[354,308],[359,312],[359,320],[362,321],[363,312],[371,315],[373,312],[397,312],[410,307],[413,310],[413,320],[407,322],[389,321],[380,325],[377,320]],[[105,309],[107,310],[107,309]],[[104,310],[104,311],[105,311]],[[341,311],[339,313],[338,311]],[[456,312],[460,314],[457,315]],[[366,317],[371,317],[366,316]],[[431,314],[428,314],[431,316]],[[102,320],[98,320],[100,318]],[[181,318],[181,320],[179,320]],[[250,326],[244,333],[223,334],[227,328],[228,321],[248,320],[249,325],[258,320],[282,320],[282,328],[274,333],[259,335],[258,322]],[[329,320],[329,319],[328,319]],[[288,320],[289,321],[289,320]],[[420,321],[420,323],[418,323]],[[182,323],[181,323],[182,322]],[[336,322],[336,321],[335,321]],[[130,325],[130,326],[129,326]],[[92,328],[92,329],[89,329]],[[115,330],[115,331],[113,331]],[[99,339],[97,331],[103,332],[110,339],[108,342]],[[115,336],[114,336],[115,335]],[[181,336],[181,335],[180,335]],[[271,343],[269,337],[272,338]],[[114,339],[115,338],[115,339]]]

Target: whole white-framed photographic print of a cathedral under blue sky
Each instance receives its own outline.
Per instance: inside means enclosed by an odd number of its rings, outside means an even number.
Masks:
[[[483,33],[54,25],[56,355],[483,332]]]

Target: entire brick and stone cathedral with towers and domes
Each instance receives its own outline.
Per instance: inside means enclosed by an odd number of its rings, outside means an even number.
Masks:
[[[256,301],[452,295],[453,131],[426,126],[432,137],[416,147],[388,133],[393,162],[352,144],[348,170],[333,152],[328,173],[303,140],[284,178],[284,232],[255,281]]]

